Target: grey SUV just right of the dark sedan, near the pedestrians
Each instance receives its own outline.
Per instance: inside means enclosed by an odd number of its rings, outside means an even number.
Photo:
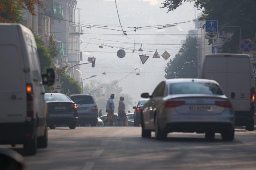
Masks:
[[[97,126],[98,122],[98,106],[93,95],[90,94],[78,94],[70,95],[78,107],[78,124],[80,126]]]

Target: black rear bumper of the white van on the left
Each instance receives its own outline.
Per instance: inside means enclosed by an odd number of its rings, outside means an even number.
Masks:
[[[0,144],[23,144],[36,133],[36,121],[0,123]]]

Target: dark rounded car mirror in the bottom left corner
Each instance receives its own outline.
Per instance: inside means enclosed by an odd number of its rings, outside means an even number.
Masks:
[[[0,170],[23,170],[23,157],[11,149],[0,149]]]

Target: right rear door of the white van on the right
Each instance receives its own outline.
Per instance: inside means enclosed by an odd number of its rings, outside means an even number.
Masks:
[[[252,81],[252,65],[250,58],[232,56],[227,58],[227,97],[233,103],[234,110],[250,110],[250,84]]]

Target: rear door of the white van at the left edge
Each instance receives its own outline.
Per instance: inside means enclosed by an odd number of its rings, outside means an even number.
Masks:
[[[24,122],[26,82],[22,52],[15,45],[0,43],[0,123]]]

